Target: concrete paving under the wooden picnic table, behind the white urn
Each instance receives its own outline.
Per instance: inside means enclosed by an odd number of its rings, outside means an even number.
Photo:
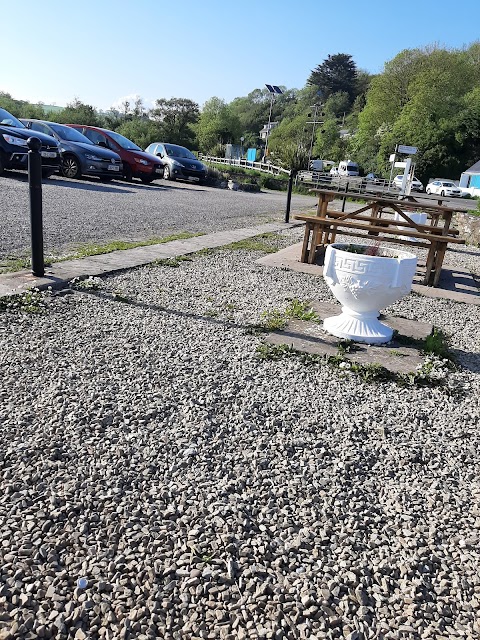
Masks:
[[[323,276],[322,265],[300,262],[301,252],[302,243],[299,242],[286,249],[259,258],[257,263],[269,267],[282,267],[300,273]],[[480,305],[480,283],[472,273],[465,269],[454,269],[447,265],[442,269],[438,287],[427,287],[421,283],[421,279],[422,275],[417,273],[413,281],[412,291],[429,298],[444,298],[465,304]]]

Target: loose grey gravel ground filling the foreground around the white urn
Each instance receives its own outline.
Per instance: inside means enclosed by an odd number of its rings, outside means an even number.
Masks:
[[[259,255],[0,314],[4,638],[480,637],[480,308],[388,309],[452,334],[446,387],[259,360],[246,325],[332,300]]]

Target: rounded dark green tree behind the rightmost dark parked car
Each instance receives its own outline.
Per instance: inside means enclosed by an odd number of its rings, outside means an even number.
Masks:
[[[189,148],[196,147],[192,125],[198,122],[200,109],[188,98],[159,98],[150,111],[150,117],[161,124],[162,139]]]

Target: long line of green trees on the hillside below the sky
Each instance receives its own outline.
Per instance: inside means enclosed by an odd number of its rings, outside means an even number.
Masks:
[[[308,157],[351,158],[365,172],[388,176],[390,154],[405,144],[418,147],[416,174],[425,180],[458,176],[480,160],[479,62],[480,42],[428,46],[400,52],[372,76],[337,53],[311,71],[305,87],[282,87],[274,100],[265,88],[230,103],[212,97],[202,108],[188,98],[159,98],[146,109],[138,98],[100,113],[76,98],[52,114],[0,93],[0,106],[17,117],[114,129],[142,148],[167,141],[220,156],[241,137],[245,149],[261,149],[259,132],[270,119],[277,125],[268,154],[285,166],[305,167]]]

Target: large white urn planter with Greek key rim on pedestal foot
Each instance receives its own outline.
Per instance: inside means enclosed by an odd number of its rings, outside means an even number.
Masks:
[[[328,245],[323,277],[342,313],[326,318],[323,328],[337,338],[381,344],[392,339],[393,330],[378,320],[380,309],[411,290],[417,258],[396,249],[364,251],[372,245]]]

